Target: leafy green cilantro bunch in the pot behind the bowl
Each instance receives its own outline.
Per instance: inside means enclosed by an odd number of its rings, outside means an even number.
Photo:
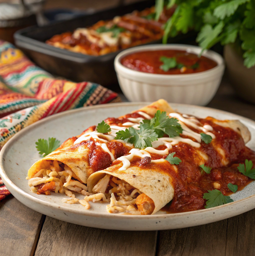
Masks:
[[[163,43],[168,37],[195,30],[202,51],[216,43],[235,43],[243,50],[244,65],[255,65],[254,0],[156,0],[155,19],[159,19],[164,6],[175,4],[177,8],[164,27]]]

